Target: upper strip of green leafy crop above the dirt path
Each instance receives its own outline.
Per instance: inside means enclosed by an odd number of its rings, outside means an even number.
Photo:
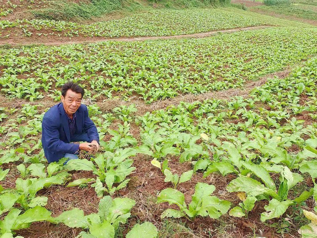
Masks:
[[[277,20],[274,17],[261,16],[236,8],[151,10],[118,20],[89,25],[52,20],[0,21],[3,38],[13,37],[11,30],[16,29],[21,31],[19,35],[22,37],[54,35],[71,38],[74,36],[170,36],[258,25],[307,26],[307,24]]]

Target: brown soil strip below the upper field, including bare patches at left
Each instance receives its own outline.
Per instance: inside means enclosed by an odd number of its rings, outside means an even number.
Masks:
[[[31,31],[33,35],[30,37],[23,36],[23,33],[20,32],[20,29],[5,29],[2,32],[2,35],[7,35],[10,30],[10,37],[7,39],[1,39],[0,45],[3,44],[10,44],[10,45],[29,45],[29,44],[44,44],[44,45],[62,45],[62,44],[82,44],[82,43],[98,43],[98,42],[104,42],[104,41],[125,41],[125,42],[131,42],[131,41],[145,41],[145,40],[167,40],[167,39],[180,39],[180,38],[202,38],[202,37],[208,37],[208,36],[214,36],[218,33],[232,33],[242,30],[257,30],[257,29],[263,29],[270,27],[268,25],[263,26],[253,26],[253,27],[245,27],[245,28],[236,28],[236,29],[229,29],[229,30],[215,30],[205,33],[196,33],[191,35],[178,35],[178,36],[153,36],[153,37],[134,37],[134,38],[105,38],[105,37],[84,37],[84,36],[74,36],[76,40],[69,39],[69,37],[66,36],[58,36],[58,33],[54,33],[55,35],[48,35],[48,36],[38,36],[36,33],[51,33],[50,30],[41,30],[41,31]],[[17,34],[17,36],[15,36]],[[12,38],[11,36],[14,36]]]

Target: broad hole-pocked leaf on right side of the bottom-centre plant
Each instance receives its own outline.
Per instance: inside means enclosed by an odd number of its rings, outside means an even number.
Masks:
[[[209,215],[210,218],[218,219],[221,215],[226,214],[231,203],[221,200],[216,196],[207,196],[202,198],[202,205],[197,208],[197,214],[201,216]]]

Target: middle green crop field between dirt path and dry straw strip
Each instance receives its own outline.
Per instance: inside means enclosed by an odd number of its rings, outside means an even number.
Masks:
[[[246,79],[316,54],[315,34],[314,28],[267,28],[180,41],[2,50],[1,91],[10,98],[34,101],[48,95],[58,101],[56,87],[73,79],[95,99],[138,95],[150,103],[179,93],[242,87]]]

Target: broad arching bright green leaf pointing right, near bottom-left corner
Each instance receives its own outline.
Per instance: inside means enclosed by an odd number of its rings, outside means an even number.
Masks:
[[[35,221],[49,221],[51,223],[56,222],[55,218],[51,217],[50,211],[43,207],[36,206],[34,208],[30,208],[22,215],[18,215],[12,226],[12,230],[28,228],[31,223]]]

